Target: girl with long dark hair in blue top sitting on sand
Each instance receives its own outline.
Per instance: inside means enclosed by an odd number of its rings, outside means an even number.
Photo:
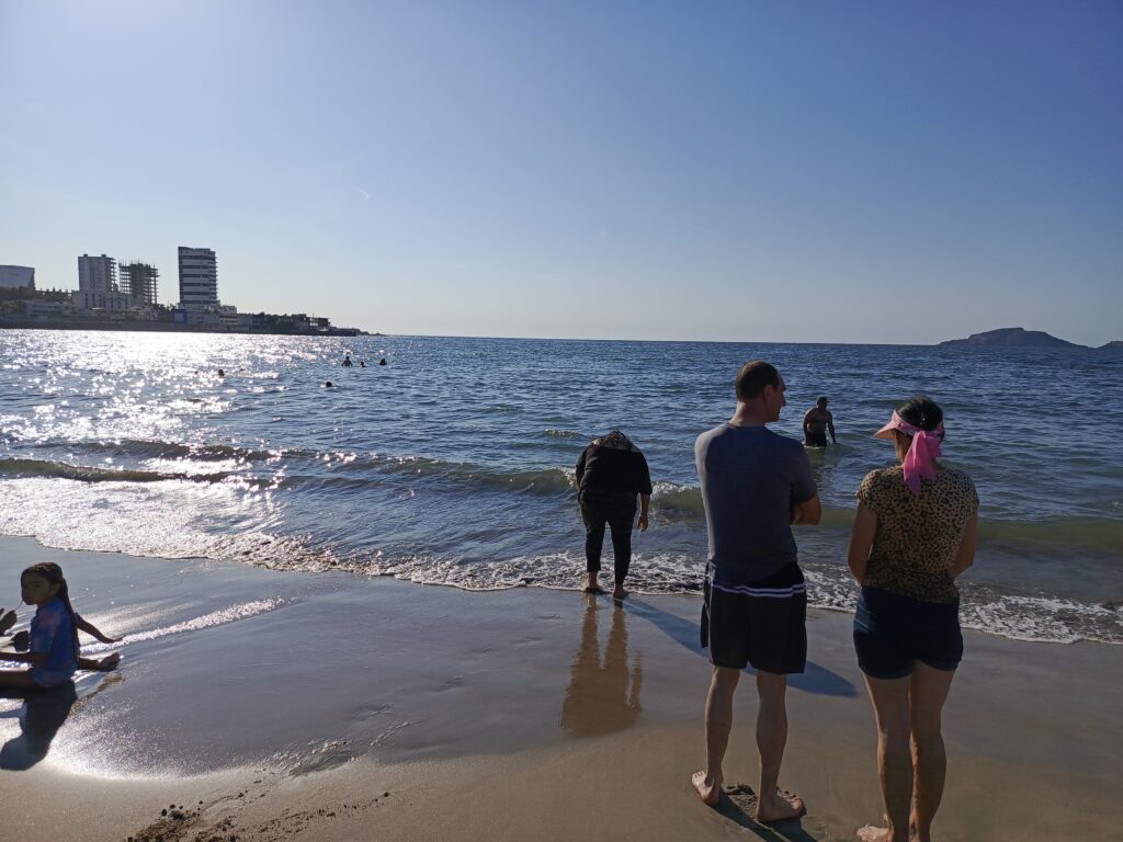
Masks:
[[[66,684],[75,669],[109,670],[121,660],[117,652],[101,659],[82,658],[77,632],[92,634],[103,643],[117,639],[103,634],[83,620],[71,606],[63,569],[53,561],[28,567],[19,577],[24,602],[36,605],[29,632],[12,638],[12,646],[29,651],[6,651],[0,660],[30,663],[28,670],[0,670],[0,689],[47,689]],[[0,633],[16,623],[16,612],[0,608]]]

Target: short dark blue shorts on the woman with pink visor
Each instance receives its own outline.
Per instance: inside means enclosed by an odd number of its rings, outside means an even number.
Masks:
[[[858,666],[870,678],[904,678],[914,661],[953,670],[964,657],[958,602],[921,602],[864,587],[853,616]]]

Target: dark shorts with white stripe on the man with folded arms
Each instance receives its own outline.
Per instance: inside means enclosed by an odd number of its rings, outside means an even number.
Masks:
[[[715,667],[777,675],[807,663],[807,591],[795,562],[748,585],[721,587],[706,576],[702,593],[702,647]]]

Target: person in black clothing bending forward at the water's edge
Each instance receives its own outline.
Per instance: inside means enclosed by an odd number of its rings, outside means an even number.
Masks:
[[[593,439],[577,459],[577,502],[585,521],[586,594],[601,594],[596,575],[601,571],[604,524],[612,530],[612,556],[615,586],[612,596],[624,596],[624,577],[631,565],[631,530],[636,522],[636,495],[639,495],[639,531],[647,530],[647,509],[651,503],[651,475],[647,459],[620,430]]]

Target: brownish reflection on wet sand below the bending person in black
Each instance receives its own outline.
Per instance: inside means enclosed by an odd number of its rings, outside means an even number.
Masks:
[[[582,621],[581,648],[574,652],[569,686],[562,703],[562,727],[582,736],[622,731],[639,721],[643,670],[636,658],[628,671],[628,628],[624,611],[612,610],[609,643],[601,660],[596,598],[588,597]],[[630,687],[629,687],[630,684]]]

